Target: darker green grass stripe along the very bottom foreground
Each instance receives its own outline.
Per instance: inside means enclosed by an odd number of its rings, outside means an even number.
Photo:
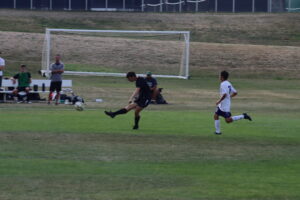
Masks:
[[[8,160],[2,195],[103,199],[296,199],[299,162],[102,163]],[[7,171],[3,171],[7,169]],[[37,184],[39,183],[39,184]],[[35,191],[35,192],[33,192]],[[15,193],[15,196],[18,196]],[[23,199],[22,197],[20,199]]]

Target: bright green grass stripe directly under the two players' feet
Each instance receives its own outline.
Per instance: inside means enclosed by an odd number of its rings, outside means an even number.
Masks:
[[[107,117],[104,110],[70,110],[23,109],[5,110],[0,113],[1,132],[31,133],[124,133],[151,135],[211,136],[214,132],[212,112],[199,111],[149,111],[142,113],[140,130],[132,130],[133,112]],[[233,114],[241,114],[234,111]],[[250,113],[253,121],[241,120],[232,124],[221,122],[221,137],[268,138],[270,140],[299,141],[297,113]],[[293,127],[293,128],[291,128]]]

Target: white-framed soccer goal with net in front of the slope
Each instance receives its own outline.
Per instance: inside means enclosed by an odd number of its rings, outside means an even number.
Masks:
[[[189,77],[188,31],[46,29],[42,73],[56,54],[65,74],[124,77],[128,71],[156,77]]]

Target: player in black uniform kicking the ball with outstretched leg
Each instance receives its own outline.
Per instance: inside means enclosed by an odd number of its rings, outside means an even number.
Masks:
[[[139,128],[139,121],[141,119],[140,112],[146,108],[151,101],[151,91],[145,78],[137,77],[134,72],[128,72],[126,75],[129,82],[135,82],[136,89],[132,93],[129,104],[116,112],[104,111],[106,115],[114,118],[117,115],[126,114],[130,110],[135,109],[135,118],[133,129]]]

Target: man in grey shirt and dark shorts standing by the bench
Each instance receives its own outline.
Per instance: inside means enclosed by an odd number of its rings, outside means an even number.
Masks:
[[[51,64],[50,66],[51,83],[48,104],[51,102],[53,92],[56,91],[57,94],[55,96],[55,105],[58,105],[62,85],[62,73],[64,73],[64,64],[60,61],[60,59],[61,56],[57,54],[55,56],[55,63]]]

